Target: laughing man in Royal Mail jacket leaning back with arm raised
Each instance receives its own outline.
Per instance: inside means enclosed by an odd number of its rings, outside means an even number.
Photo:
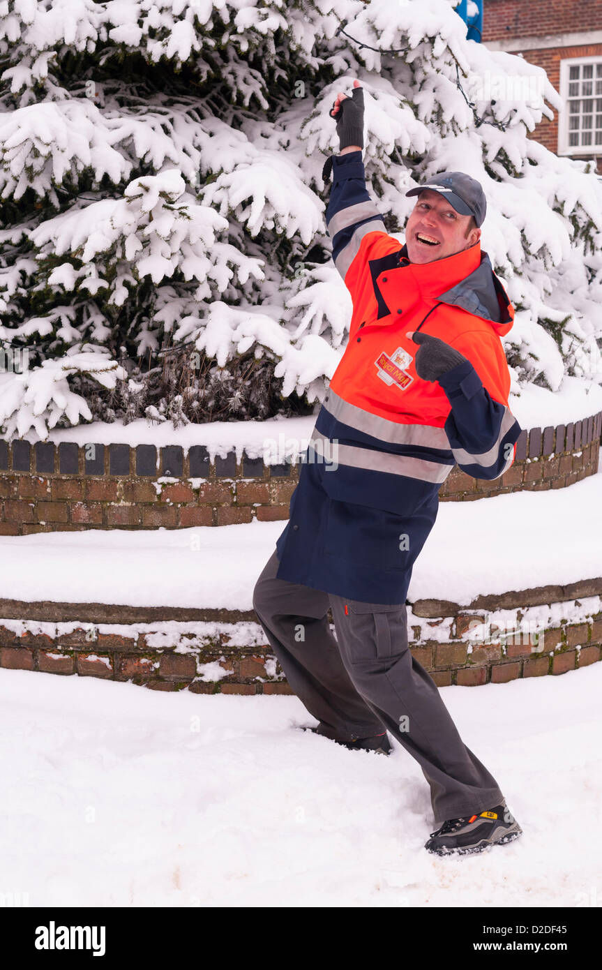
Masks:
[[[499,339],[514,309],[480,250],[475,179],[444,173],[411,189],[405,245],[387,235],[365,188],[354,83],[334,102],[340,154],[323,174],[333,171],[326,220],[353,302],[349,342],[253,606],[312,729],[383,754],[390,730],[430,787],[428,851],[479,852],[522,829],[412,657],[405,603],[449,472],[491,480],[514,461],[522,429]]]

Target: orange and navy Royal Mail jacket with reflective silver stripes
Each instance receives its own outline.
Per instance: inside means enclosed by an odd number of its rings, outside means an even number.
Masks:
[[[277,576],[399,604],[454,466],[494,479],[514,461],[522,429],[508,407],[500,340],[514,308],[479,242],[410,263],[366,191],[360,151],[333,158],[327,228],[352,298],[349,342],[276,543]],[[416,330],[467,360],[423,380],[414,366],[419,345],[405,336]]]

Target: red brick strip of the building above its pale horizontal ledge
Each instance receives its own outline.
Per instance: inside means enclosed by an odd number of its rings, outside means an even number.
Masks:
[[[602,28],[600,0],[485,0],[483,40]]]

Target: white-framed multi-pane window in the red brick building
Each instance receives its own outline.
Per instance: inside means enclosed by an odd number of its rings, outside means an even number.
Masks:
[[[602,56],[560,61],[559,155],[602,155]]]

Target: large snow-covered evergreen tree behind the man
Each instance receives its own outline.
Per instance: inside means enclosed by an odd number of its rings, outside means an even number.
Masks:
[[[482,182],[481,245],[517,309],[515,393],[602,380],[593,163],[528,137],[557,93],[467,41],[456,5],[0,3],[3,436],[322,399],[351,316],[322,167],[354,78],[371,193],[400,243],[409,187],[443,170]],[[7,366],[24,348],[28,367]]]

